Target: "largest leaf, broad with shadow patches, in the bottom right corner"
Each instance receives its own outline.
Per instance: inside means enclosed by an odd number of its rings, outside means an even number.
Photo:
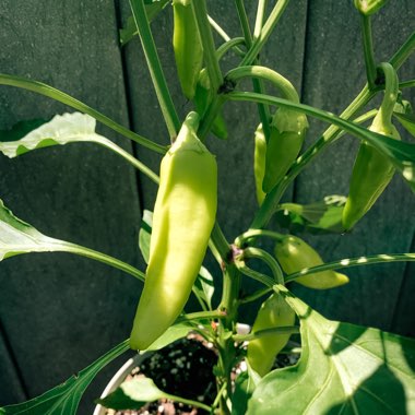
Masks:
[[[415,413],[415,340],[327,320],[278,288],[300,319],[303,354],[258,383],[247,414]]]

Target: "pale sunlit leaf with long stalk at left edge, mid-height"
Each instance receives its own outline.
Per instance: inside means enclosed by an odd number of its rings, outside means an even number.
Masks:
[[[26,222],[14,216],[0,199],[0,261],[22,253],[59,251],[91,258],[124,271],[139,280],[144,280],[141,271],[126,262],[75,244],[50,238],[39,233]]]

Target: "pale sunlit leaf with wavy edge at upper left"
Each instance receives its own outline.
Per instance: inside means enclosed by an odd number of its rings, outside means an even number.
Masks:
[[[40,124],[16,140],[15,131],[2,133],[0,152],[8,157],[16,157],[32,150],[51,145],[64,145],[73,142],[95,142],[105,146],[114,146],[112,142],[95,133],[95,118],[81,112],[55,116],[50,121]],[[25,124],[23,124],[25,126]],[[31,123],[26,126],[28,128]],[[19,126],[14,130],[19,131]]]

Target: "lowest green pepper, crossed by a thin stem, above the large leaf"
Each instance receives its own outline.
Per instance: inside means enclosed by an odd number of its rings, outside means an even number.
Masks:
[[[274,293],[259,309],[252,332],[293,325],[294,322],[295,312],[281,294]],[[261,377],[265,376],[271,370],[276,355],[287,344],[289,336],[290,334],[270,333],[250,341],[247,348],[250,367]]]

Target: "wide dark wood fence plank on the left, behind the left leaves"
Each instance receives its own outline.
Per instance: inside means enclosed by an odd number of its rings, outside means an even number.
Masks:
[[[0,67],[46,82],[128,124],[112,2],[0,4]],[[72,109],[0,87],[0,128]],[[99,131],[127,150],[128,140]],[[142,268],[133,168],[107,150],[69,145],[0,158],[0,197],[48,236]],[[31,254],[0,263],[0,316],[31,396],[66,380],[129,335],[141,283],[69,254]],[[2,367],[0,368],[2,371]],[[95,390],[96,396],[99,390]],[[0,401],[7,389],[0,387]],[[94,398],[93,396],[93,398]],[[84,413],[91,413],[91,402]]]

